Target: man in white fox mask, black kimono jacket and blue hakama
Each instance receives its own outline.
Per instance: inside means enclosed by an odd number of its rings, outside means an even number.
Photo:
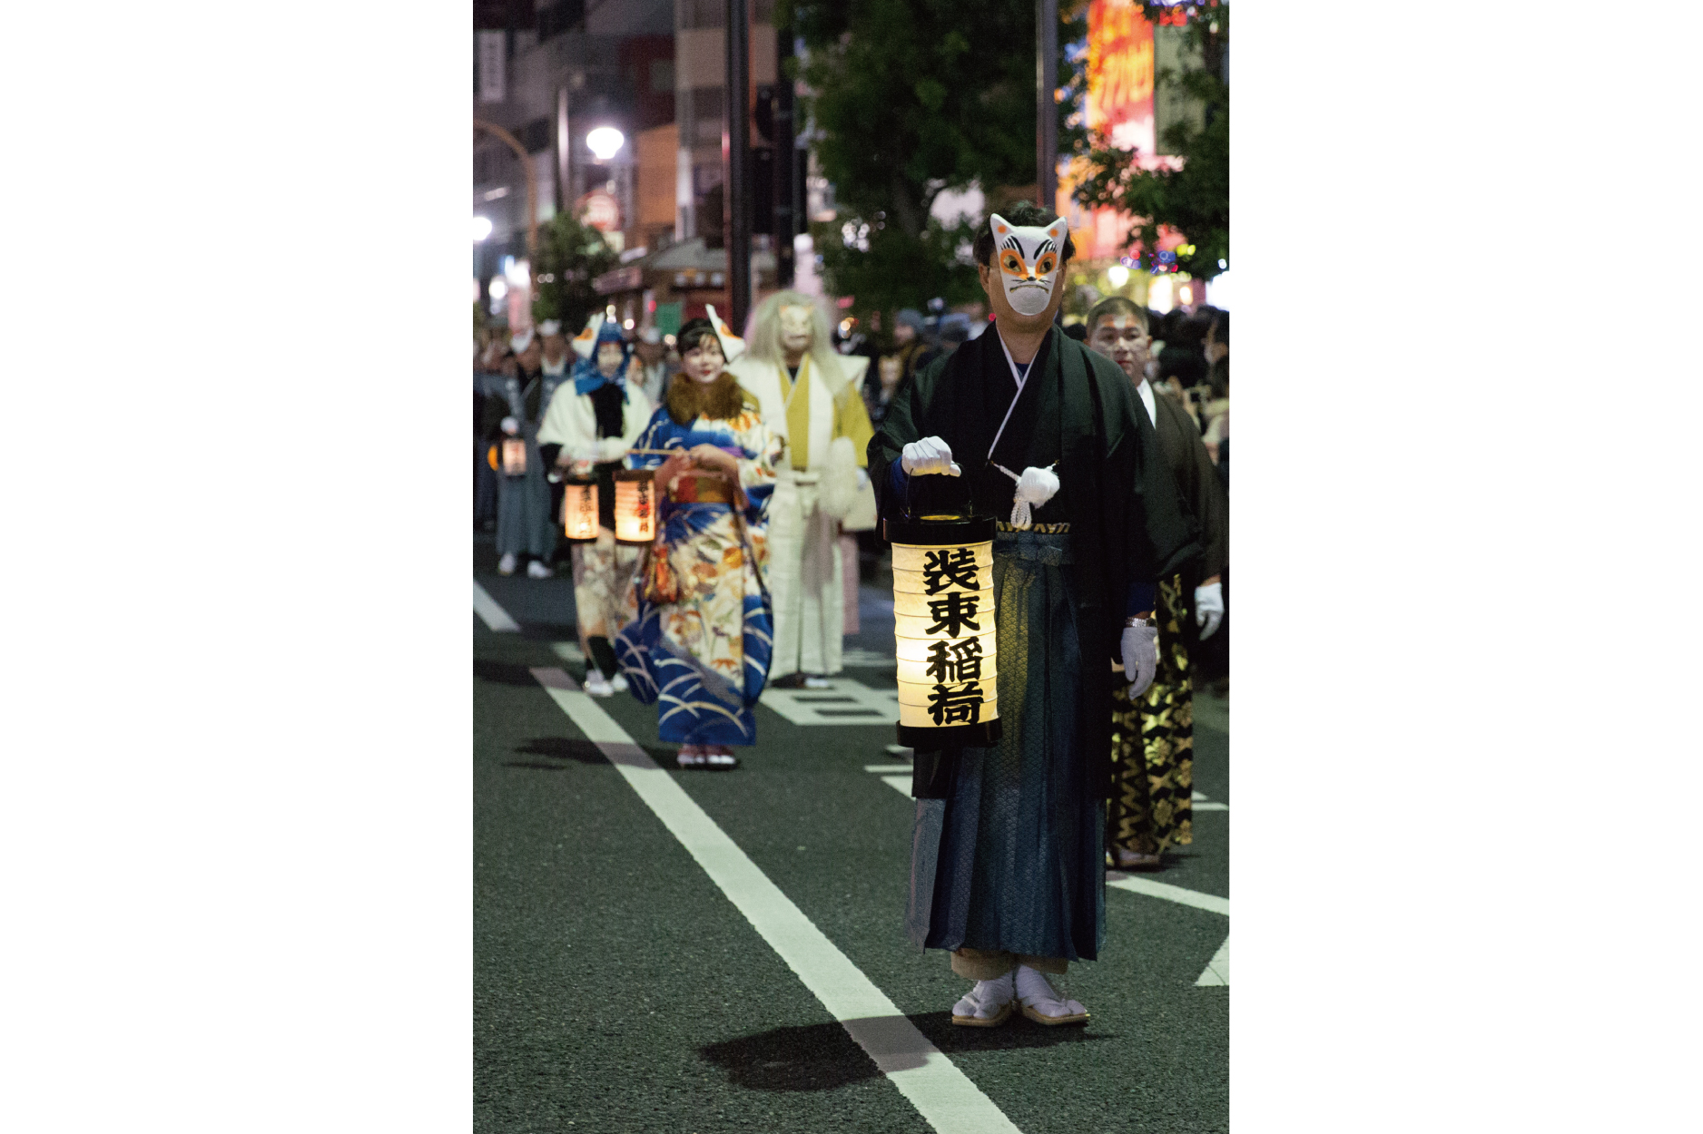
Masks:
[[[976,981],[954,1023],[1018,1006],[1080,1023],[1042,974],[1097,959],[1105,936],[1107,703],[1114,681],[1153,679],[1155,584],[1197,548],[1129,380],[1052,325],[1064,221],[1018,204],[974,250],[995,327],[901,388],[869,446],[884,518],[1000,521],[1001,739],[916,753],[906,930]]]

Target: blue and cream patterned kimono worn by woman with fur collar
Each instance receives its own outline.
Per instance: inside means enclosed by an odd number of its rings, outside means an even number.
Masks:
[[[664,405],[639,434],[639,450],[690,450],[714,444],[739,461],[746,506],[691,499],[697,478],[679,477],[662,494],[659,545],[679,586],[679,599],[649,603],[644,576],[639,618],[615,637],[622,673],[642,705],[657,703],[657,734],[669,744],[754,744],[753,707],[768,679],[773,610],[766,567],[765,518],[775,489],[782,443],[753,407],[734,419],[698,415],[676,422]],[[630,468],[656,468],[666,458],[632,455]],[[736,514],[737,507],[737,514]],[[656,555],[652,547],[651,553]]]

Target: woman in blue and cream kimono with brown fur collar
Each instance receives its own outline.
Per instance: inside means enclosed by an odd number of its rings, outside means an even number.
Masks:
[[[765,506],[780,438],[724,368],[744,346],[712,320],[679,329],[683,373],[668,387],[630,468],[656,468],[657,541],[644,564],[637,618],[615,639],[640,703],[661,700],[657,736],[678,744],[681,768],[734,768],[732,749],[756,744],[753,707],[770,662],[771,615],[763,586]]]

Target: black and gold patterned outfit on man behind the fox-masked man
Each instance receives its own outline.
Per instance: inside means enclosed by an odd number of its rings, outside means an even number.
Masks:
[[[1201,431],[1167,393],[1155,390],[1153,402],[1160,455],[1199,524],[1202,553],[1160,581],[1153,608],[1160,623],[1160,664],[1153,684],[1136,703],[1129,700],[1129,686],[1112,690],[1112,805],[1105,841],[1139,855],[1194,841],[1190,649],[1199,647],[1194,587],[1230,562],[1230,502]]]

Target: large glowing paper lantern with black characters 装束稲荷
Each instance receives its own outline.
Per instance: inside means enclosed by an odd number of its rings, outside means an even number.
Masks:
[[[991,518],[887,521],[899,744],[916,751],[1000,739],[993,526]]]

